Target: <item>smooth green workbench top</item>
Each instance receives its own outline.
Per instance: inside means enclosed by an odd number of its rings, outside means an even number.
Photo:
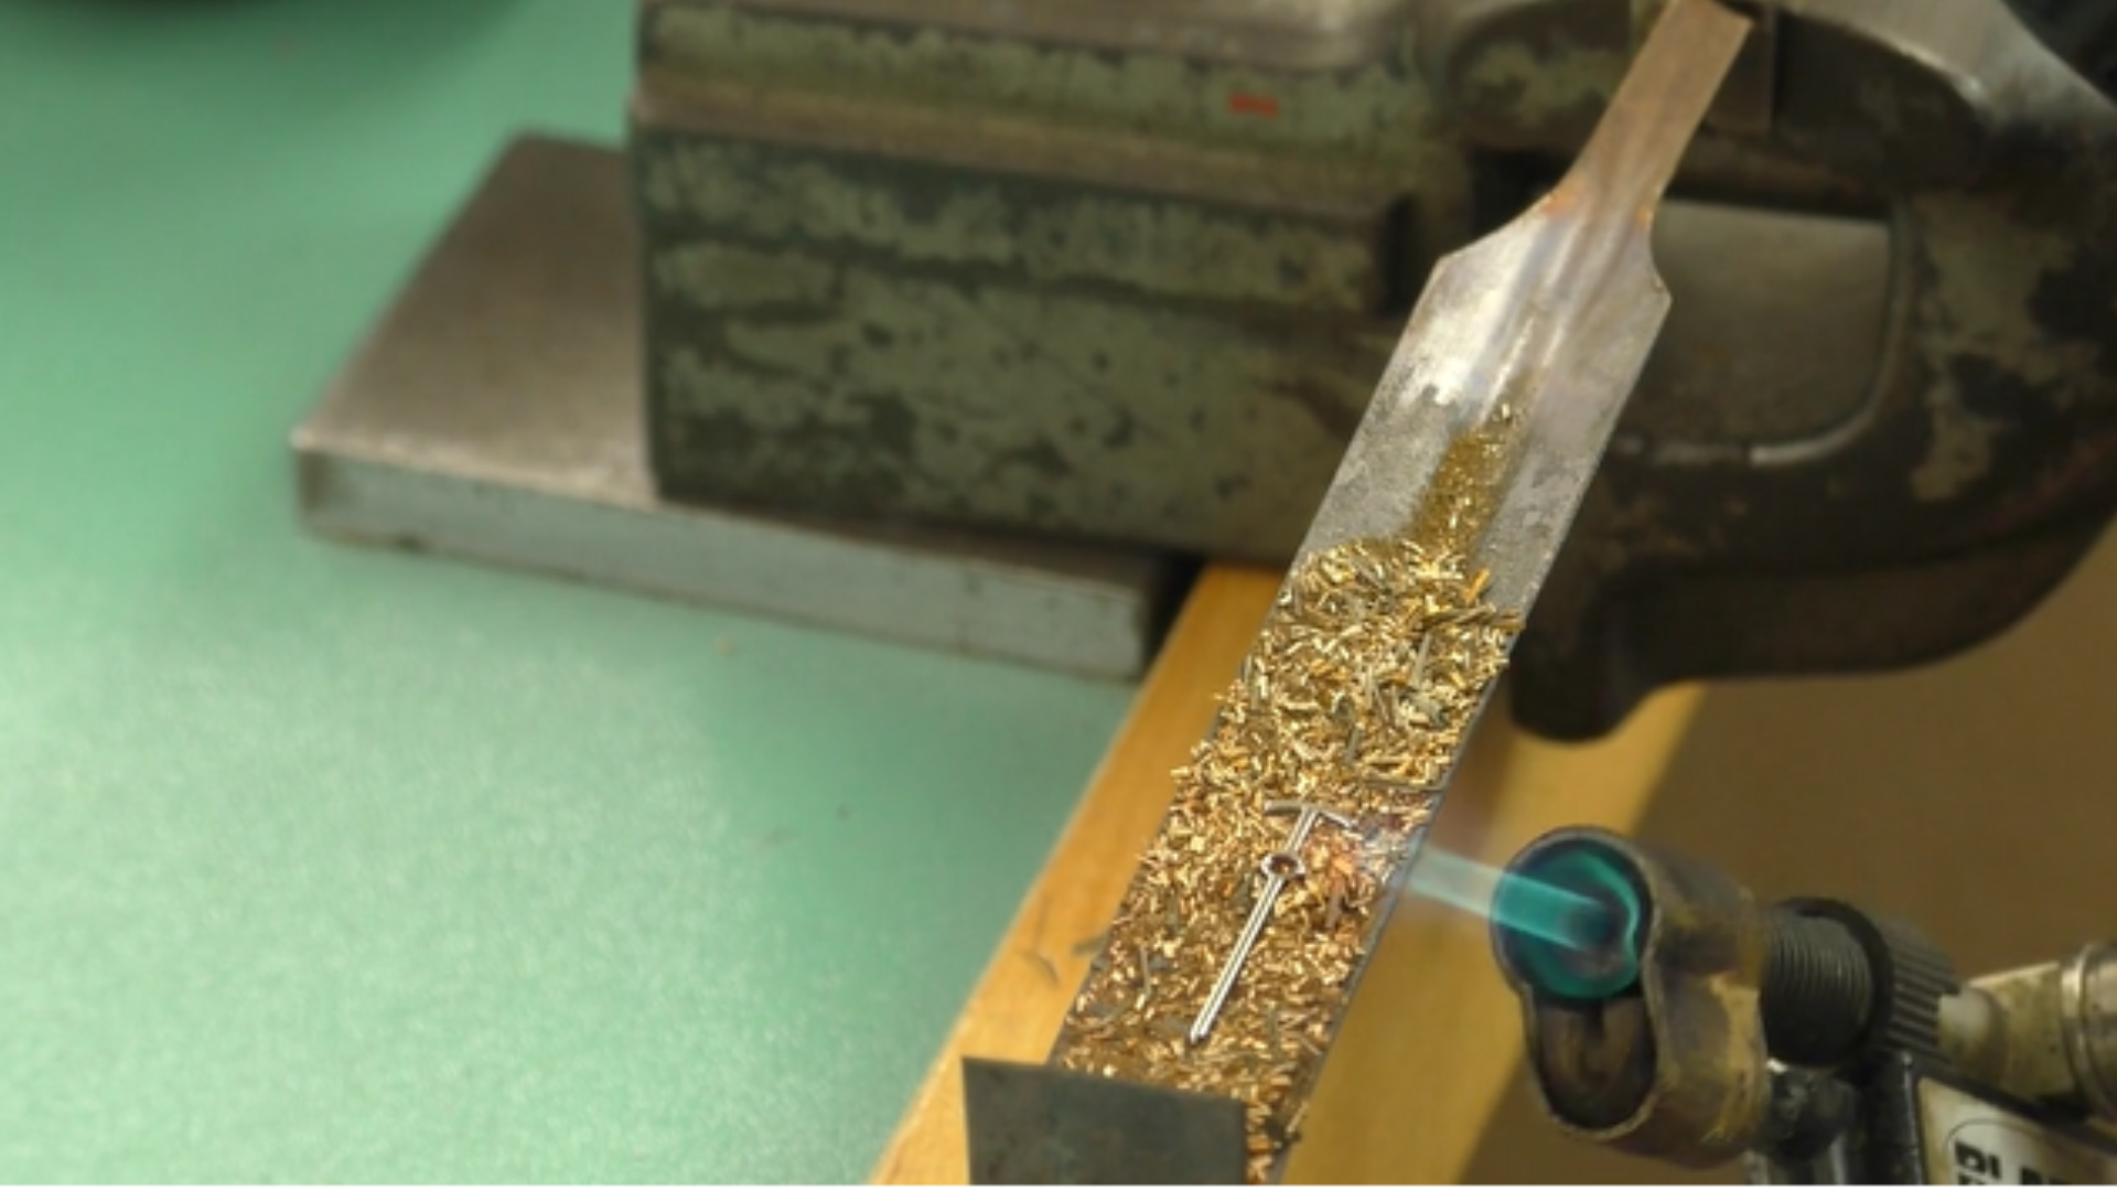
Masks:
[[[1122,716],[296,530],[631,15],[0,4],[0,1180],[857,1180]]]

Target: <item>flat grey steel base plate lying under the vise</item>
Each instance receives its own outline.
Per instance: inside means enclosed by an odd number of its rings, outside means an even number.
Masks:
[[[1147,551],[832,526],[652,492],[620,155],[510,146],[294,434],[320,532],[1105,678],[1177,596]]]

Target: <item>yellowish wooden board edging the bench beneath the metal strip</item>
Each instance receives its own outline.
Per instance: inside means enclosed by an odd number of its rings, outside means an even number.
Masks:
[[[1133,714],[874,1168],[874,1183],[963,1183],[963,1055],[1042,1062],[1169,807],[1169,771],[1213,721],[1279,591],[1277,572],[1209,568]],[[1647,704],[1592,746],[1531,740],[1488,716],[1433,843],[1505,860],[1560,824],[1630,829],[1696,693]],[[1520,1055],[1514,1000],[1484,924],[1408,899],[1391,920],[1323,1070],[1289,1183],[1450,1183]]]

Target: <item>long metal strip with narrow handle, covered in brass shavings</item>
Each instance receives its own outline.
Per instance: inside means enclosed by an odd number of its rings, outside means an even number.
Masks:
[[[1717,0],[1670,0],[1564,180],[1433,269],[1052,1060],[965,1062],[972,1180],[1283,1172],[1389,894],[1660,333],[1653,212],[1749,28]],[[1385,608],[1408,617],[1395,640]],[[1380,682],[1372,661],[1338,657],[1361,648],[1389,653]],[[1308,657],[1315,680],[1268,655]],[[1452,706],[1418,691],[1446,665]],[[1194,788],[1211,797],[1188,803]],[[1232,820],[1257,824],[1243,841],[1283,833],[1266,807],[1289,799],[1357,826],[1264,843],[1262,884],[1249,867],[1192,882],[1247,846],[1230,846]],[[1365,873],[1374,896],[1346,905],[1323,888],[1332,871],[1344,888]],[[1190,973],[1211,996],[1192,996]]]

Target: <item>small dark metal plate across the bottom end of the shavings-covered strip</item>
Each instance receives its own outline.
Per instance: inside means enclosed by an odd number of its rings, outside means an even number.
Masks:
[[[970,1180],[1243,1183],[1243,1106],[1069,1070],[963,1060]]]

